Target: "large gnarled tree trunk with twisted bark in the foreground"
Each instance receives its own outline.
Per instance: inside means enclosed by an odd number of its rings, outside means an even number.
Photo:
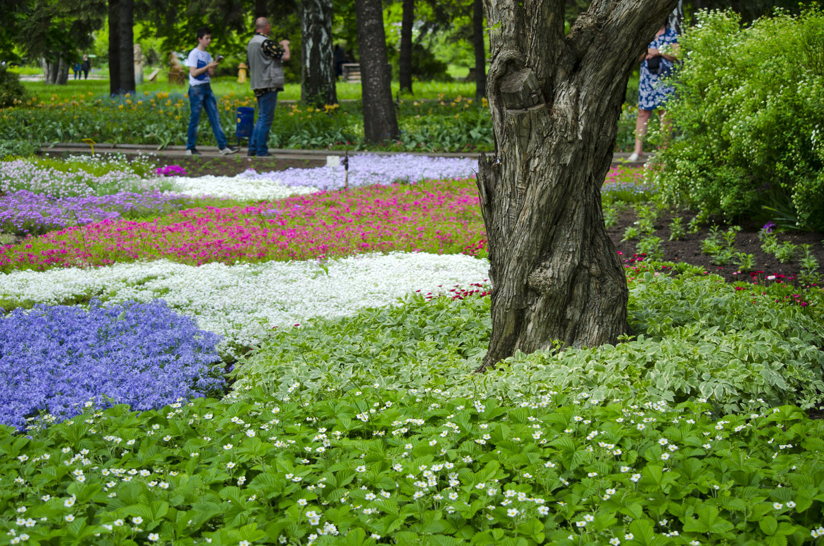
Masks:
[[[494,158],[478,187],[492,336],[480,369],[515,351],[614,343],[628,289],[601,186],[627,80],[677,0],[595,0],[564,36],[564,3],[485,0]]]

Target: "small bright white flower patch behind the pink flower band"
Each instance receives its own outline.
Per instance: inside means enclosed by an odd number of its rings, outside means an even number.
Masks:
[[[234,177],[168,177],[174,188],[172,193],[192,197],[227,197],[237,200],[283,199],[289,195],[302,195],[319,191],[314,186],[284,186],[271,178],[250,177],[246,173]]]

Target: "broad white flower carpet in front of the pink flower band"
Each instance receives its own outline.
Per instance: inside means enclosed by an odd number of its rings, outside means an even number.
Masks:
[[[0,274],[0,298],[59,304],[101,295],[105,304],[165,299],[198,326],[232,344],[250,346],[274,327],[311,318],[339,318],[360,308],[396,304],[421,290],[446,293],[488,278],[489,261],[462,254],[396,252],[317,261],[269,261],[186,266],[171,261],[115,264],[97,269],[14,271]]]

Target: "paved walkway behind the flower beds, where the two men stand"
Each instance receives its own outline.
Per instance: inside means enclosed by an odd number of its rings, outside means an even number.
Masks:
[[[232,143],[229,143],[232,145]],[[218,153],[218,148],[216,146],[198,146],[198,150],[201,153],[201,158],[218,158],[222,157]],[[40,148],[40,151],[43,153],[65,153],[65,152],[89,152],[91,151],[91,146],[89,144],[82,144],[82,143],[56,143],[52,146],[44,146]],[[154,155],[162,156],[162,157],[183,157],[186,147],[185,146],[167,146],[166,148],[160,150],[157,149],[155,144],[95,144],[94,145],[95,153],[125,153],[125,154],[138,154],[138,153],[151,153]],[[269,156],[272,160],[277,159],[297,159],[297,160],[324,160],[327,156],[343,156],[344,150],[296,150],[296,149],[284,149],[284,148],[269,148]],[[396,155],[399,153],[406,153],[411,155],[420,155],[420,156],[428,156],[430,158],[478,158],[480,155],[478,152],[471,152],[471,153],[426,153],[426,152],[353,152],[350,151],[349,155],[362,155],[364,153],[379,153],[380,155]],[[223,156],[227,158],[232,158],[235,156],[246,157],[246,148],[241,148],[241,151],[232,154],[229,156]],[[627,158],[630,157],[629,153],[615,153],[612,156],[612,165],[626,165],[627,167],[642,167],[644,162],[647,161],[648,157],[641,158],[639,161],[629,162]],[[257,158],[260,160],[265,160],[266,158]]]

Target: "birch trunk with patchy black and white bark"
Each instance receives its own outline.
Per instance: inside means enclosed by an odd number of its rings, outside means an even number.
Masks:
[[[301,2],[301,100],[313,106],[336,104],[332,59],[332,0]]]

